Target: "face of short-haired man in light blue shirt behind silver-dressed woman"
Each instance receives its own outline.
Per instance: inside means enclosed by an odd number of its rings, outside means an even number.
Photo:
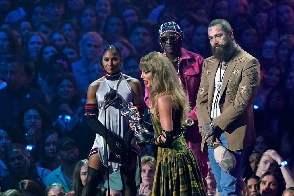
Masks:
[[[82,46],[83,56],[92,61],[96,59],[102,51],[102,43],[96,38],[88,38]]]

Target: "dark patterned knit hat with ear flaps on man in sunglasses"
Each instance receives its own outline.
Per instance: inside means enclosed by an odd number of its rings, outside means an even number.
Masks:
[[[159,38],[161,37],[162,34],[164,34],[165,32],[174,32],[176,34],[178,34],[181,38],[181,46],[183,46],[183,40],[185,38],[184,36],[184,32],[181,31],[181,28],[178,24],[176,24],[174,21],[170,21],[170,22],[165,22],[165,23],[162,23],[160,28],[159,28],[159,36],[158,36],[158,42],[161,46],[161,48],[163,49],[164,51],[164,55],[166,56],[166,52],[162,46],[162,43],[161,41],[159,40]],[[180,52],[181,54],[181,52]],[[179,57],[178,57],[178,64],[180,64],[180,54],[179,54]]]

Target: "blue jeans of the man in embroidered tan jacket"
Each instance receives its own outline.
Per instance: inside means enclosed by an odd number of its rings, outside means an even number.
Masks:
[[[219,137],[221,143],[224,147],[228,148],[227,141],[225,139],[225,133],[220,134]],[[244,149],[242,150],[236,150],[236,151],[230,151],[235,155],[237,163],[235,168],[230,172],[226,173],[224,170],[220,168],[218,163],[213,157],[213,147],[208,146],[208,158],[211,164],[211,169],[214,174],[214,177],[216,178],[218,193],[221,196],[237,196],[240,195],[241,191],[241,168],[242,168],[242,162],[244,158]]]

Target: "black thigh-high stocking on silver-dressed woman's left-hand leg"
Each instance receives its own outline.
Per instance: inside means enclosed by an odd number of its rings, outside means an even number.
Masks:
[[[81,196],[96,196],[97,187],[100,182],[103,180],[105,171],[96,170],[88,166],[88,175],[86,179],[86,184],[83,187]]]

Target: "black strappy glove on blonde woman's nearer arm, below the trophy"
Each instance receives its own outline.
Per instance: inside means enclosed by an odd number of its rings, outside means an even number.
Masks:
[[[162,132],[165,132],[166,136],[163,135],[162,133],[158,135],[158,137],[152,138],[152,139],[143,139],[140,142],[137,142],[138,146],[143,147],[147,145],[152,145],[152,146],[159,146],[159,147],[168,147],[172,142],[173,142],[173,131],[165,131],[162,130]],[[165,142],[163,142],[162,138],[166,139]],[[157,141],[158,138],[158,141]]]

